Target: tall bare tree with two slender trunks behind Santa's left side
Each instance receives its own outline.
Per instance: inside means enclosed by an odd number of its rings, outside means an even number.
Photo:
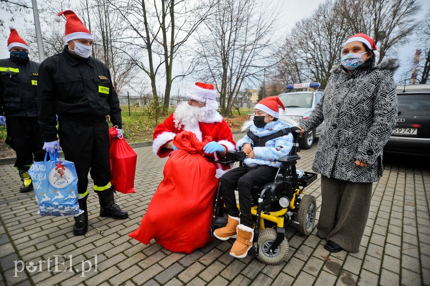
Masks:
[[[149,77],[154,106],[158,103],[158,76],[165,80],[164,109],[168,108],[175,58],[189,37],[208,17],[215,0],[109,0],[128,30],[124,52]],[[143,53],[145,52],[145,53]],[[162,72],[163,71],[163,72]]]

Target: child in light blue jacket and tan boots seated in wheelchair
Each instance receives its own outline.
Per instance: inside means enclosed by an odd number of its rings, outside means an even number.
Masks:
[[[293,125],[279,120],[279,107],[285,110],[280,99],[268,97],[254,107],[255,116],[249,132],[236,144],[247,155],[243,165],[224,173],[220,178],[224,204],[228,214],[227,225],[214,231],[221,240],[236,238],[230,255],[243,258],[253,241],[251,217],[251,189],[273,180],[281,162],[277,160],[290,153]],[[240,211],[236,205],[234,190],[238,189]]]

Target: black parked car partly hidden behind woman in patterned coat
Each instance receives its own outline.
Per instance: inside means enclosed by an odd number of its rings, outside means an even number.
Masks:
[[[430,91],[397,92],[397,124],[384,153],[430,156]]]

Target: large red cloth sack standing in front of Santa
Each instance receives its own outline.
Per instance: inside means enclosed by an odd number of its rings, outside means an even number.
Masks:
[[[148,244],[151,239],[173,252],[191,253],[212,240],[209,229],[218,179],[215,165],[203,156],[196,135],[183,131],[173,144],[180,148],[171,153],[164,165],[159,184],[140,226],[129,236]]]

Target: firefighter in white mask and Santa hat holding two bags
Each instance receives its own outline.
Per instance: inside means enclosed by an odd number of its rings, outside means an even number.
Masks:
[[[110,182],[109,134],[106,116],[121,129],[121,108],[112,85],[109,69],[91,57],[93,35],[73,11],[58,13],[66,18],[64,50],[42,62],[39,68],[39,124],[45,140],[43,149],[60,149],[55,127],[58,115],[58,137],[66,160],[74,162],[77,173],[79,208],[74,235],[88,230],[88,172],[99,196],[100,216],[127,219],[114,201]],[[119,135],[122,132],[119,130]],[[91,170],[90,170],[91,169]]]

